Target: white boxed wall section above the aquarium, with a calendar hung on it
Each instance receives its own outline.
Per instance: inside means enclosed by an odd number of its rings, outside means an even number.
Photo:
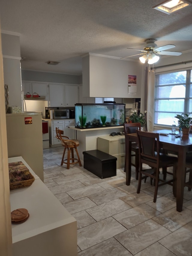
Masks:
[[[143,66],[126,61],[89,54],[82,58],[83,96],[141,98]],[[128,75],[137,76],[137,93],[128,94]]]

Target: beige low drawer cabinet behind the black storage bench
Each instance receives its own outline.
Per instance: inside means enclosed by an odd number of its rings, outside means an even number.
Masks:
[[[125,135],[103,135],[97,138],[97,149],[117,158],[117,169],[125,166]]]

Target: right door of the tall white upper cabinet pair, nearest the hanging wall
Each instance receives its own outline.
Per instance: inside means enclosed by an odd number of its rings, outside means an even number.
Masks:
[[[78,98],[78,85],[65,84],[65,107],[75,107]]]

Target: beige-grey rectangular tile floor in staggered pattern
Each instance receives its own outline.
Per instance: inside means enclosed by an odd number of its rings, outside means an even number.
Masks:
[[[153,203],[149,178],[137,194],[134,171],[126,186],[123,169],[100,179],[78,164],[60,166],[62,153],[62,146],[44,149],[44,183],[77,220],[78,256],[192,255],[192,191],[185,188],[177,212],[170,185]]]

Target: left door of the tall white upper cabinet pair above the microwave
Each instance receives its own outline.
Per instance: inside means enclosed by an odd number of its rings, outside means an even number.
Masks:
[[[64,107],[64,84],[49,84],[49,107]]]

